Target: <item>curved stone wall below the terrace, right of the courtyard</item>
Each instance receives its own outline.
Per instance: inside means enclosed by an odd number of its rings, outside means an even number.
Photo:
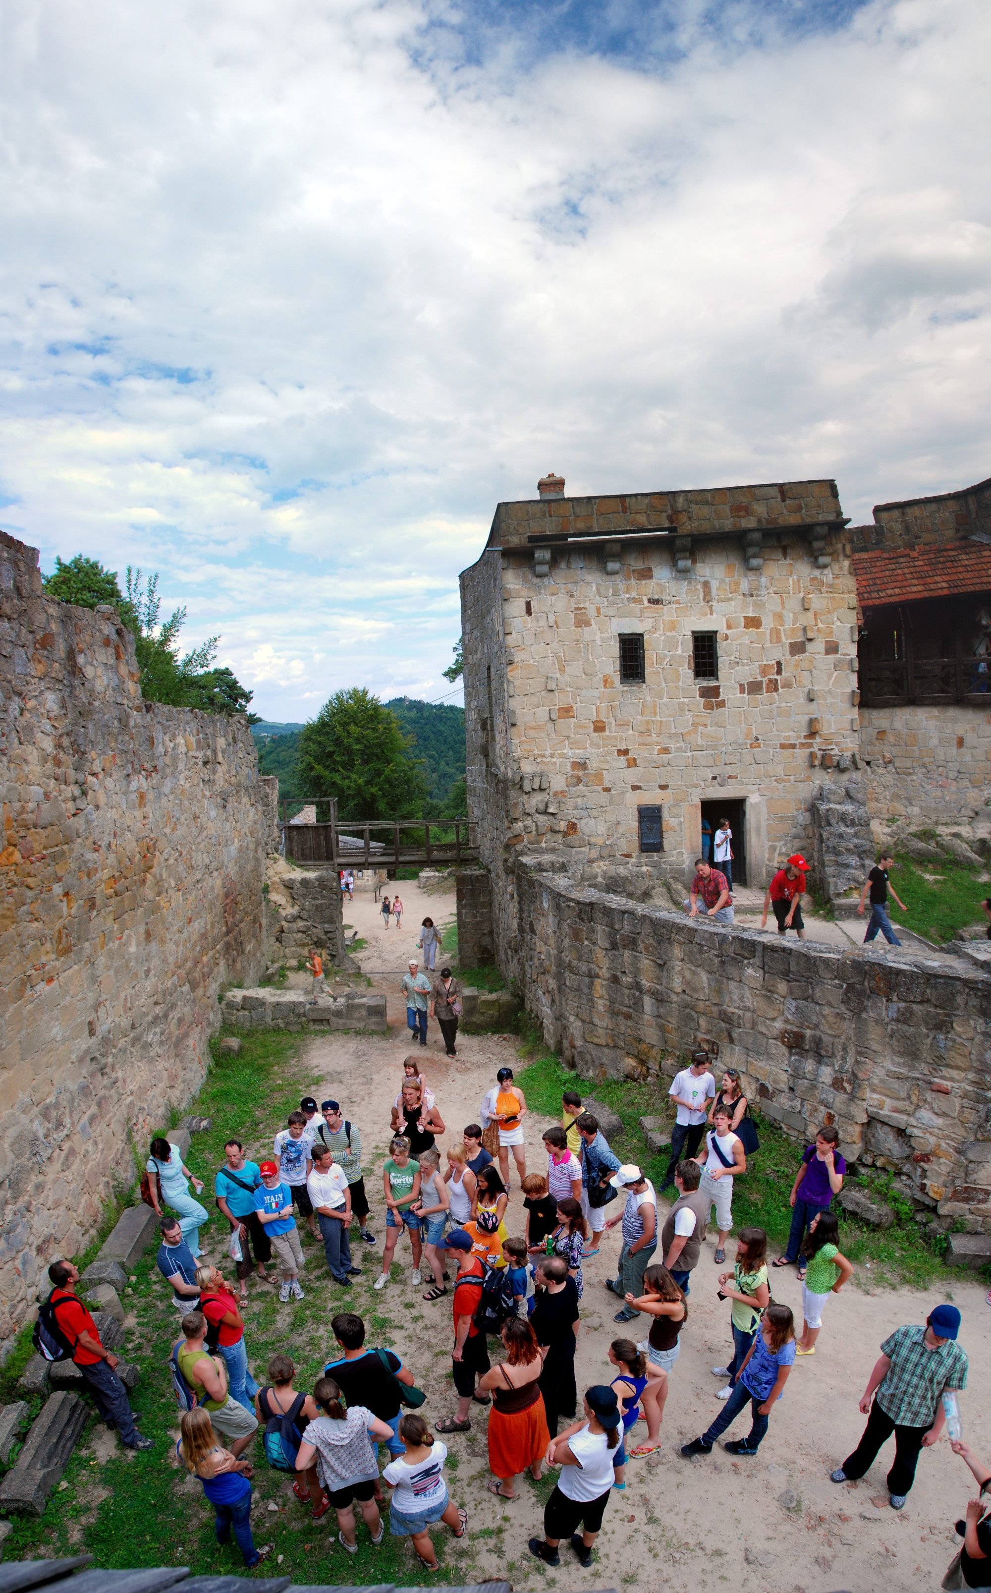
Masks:
[[[991,1233],[991,978],[870,948],[779,943],[518,865],[527,1008],[583,1078],[656,1078],[717,1040],[720,1066],[795,1137],[840,1128],[919,1209]]]

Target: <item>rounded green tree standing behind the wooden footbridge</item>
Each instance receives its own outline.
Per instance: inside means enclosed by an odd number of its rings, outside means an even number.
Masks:
[[[411,746],[395,714],[365,687],[335,691],[300,733],[301,793],[336,796],[347,822],[417,819],[427,787]]]

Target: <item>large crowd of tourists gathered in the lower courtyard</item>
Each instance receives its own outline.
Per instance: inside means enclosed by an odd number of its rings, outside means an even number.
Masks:
[[[782,1400],[787,1411],[795,1360],[816,1354],[830,1295],[854,1273],[840,1251],[833,1211],[846,1177],[836,1129],[824,1125],[803,1150],[789,1198],[789,1241],[770,1260],[762,1228],[744,1227],[730,1238],[734,1180],[750,1169],[757,1133],[739,1074],[723,1070],[717,1090],[707,1051],[695,1051],[671,1083],[676,1123],[660,1185],[660,1193],[672,1192],[666,1215],[652,1180],[620,1161],[578,1091],[564,1093],[561,1121],[543,1131],[537,1168],[527,1171],[529,1107],[511,1069],[499,1070],[480,1120],[465,1125],[460,1142],[443,1157],[437,1137],[446,1125],[417,1055],[406,1058],[397,1085],[381,1174],[382,1235],[371,1228],[362,1136],[339,1101],[317,1107],[304,1098],[264,1160],[252,1161],[241,1139],[228,1141],[213,1198],[229,1228],[234,1279],[201,1254],[199,1233],[209,1220],[198,1198],[202,1182],[177,1144],[151,1142],[145,1188],[159,1215],[158,1268],[178,1316],[172,1349],[182,1410],[178,1461],[202,1483],[218,1540],[233,1534],[249,1568],[266,1553],[252,1536],[250,1477],[255,1464],[268,1464],[293,1474],[295,1496],[311,1520],[336,1512],[347,1553],[357,1553],[358,1517],[371,1544],[382,1542],[387,1504],[390,1534],[409,1537],[422,1566],[435,1569],[432,1529],[443,1523],[454,1537],[468,1529],[468,1512],[448,1486],[448,1443],[472,1432],[484,1413],[492,1494],[518,1499],[524,1472],[534,1480],[548,1467],[558,1472],[543,1534],[529,1539],[531,1553],[558,1566],[564,1540],[588,1566],[609,1501],[628,1485],[629,1464],[660,1448],[714,1214],[714,1260],[723,1266],[715,1287],[728,1305],[733,1354],[712,1367],[719,1380],[712,1421],[680,1453],[687,1459],[711,1454],[738,1418],[749,1416],[749,1431],[738,1429],[739,1437],[723,1450],[752,1458],[771,1421],[781,1419]],[[285,1352],[269,1359],[266,1383],[257,1383],[242,1316],[247,1286],[255,1278],[277,1289],[290,1308],[304,1298],[298,1223],[322,1244],[331,1286],[341,1290],[363,1271],[354,1257],[376,1257],[379,1238],[374,1289],[395,1287],[395,1265],[409,1241],[411,1286],[425,1286],[429,1305],[451,1298],[456,1400],[449,1411],[430,1423],[419,1415],[425,1394],[414,1370],[394,1349],[368,1343],[362,1316],[346,1301],[331,1317],[335,1349],[312,1389],[296,1389],[296,1367]],[[613,1295],[620,1333],[602,1356],[601,1380],[580,1391],[583,1263],[613,1228],[620,1230],[617,1266],[604,1287]],[[795,1266],[801,1281],[800,1330],[792,1309],[771,1298],[770,1268],[784,1266]],[[64,1335],[107,1424],[124,1445],[148,1448],[115,1372],[116,1357],[104,1349],[76,1292],[76,1268],[56,1262],[49,1276],[46,1321]],[[645,1338],[634,1337],[633,1322],[644,1324]],[[953,1451],[981,1494],[991,1486],[991,1472],[961,1435],[956,1392],[967,1386],[967,1354],[959,1329],[961,1313],[946,1303],[924,1327],[900,1325],[884,1338],[859,1402],[867,1426],[832,1472],[835,1483],[864,1477],[894,1437],[887,1488],[892,1509],[902,1510],[921,1451],[948,1424]],[[639,1423],[642,1437],[634,1431]],[[991,1512],[972,1501],[958,1523],[959,1580],[945,1585],[991,1587],[989,1523]]]

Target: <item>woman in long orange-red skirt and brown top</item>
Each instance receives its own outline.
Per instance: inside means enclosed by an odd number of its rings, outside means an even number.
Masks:
[[[524,1317],[502,1324],[505,1360],[481,1378],[478,1389],[492,1395],[489,1411],[489,1493],[518,1499],[516,1477],[527,1467],[540,1481],[550,1443],[543,1395],[537,1383],[543,1356],[534,1329]]]

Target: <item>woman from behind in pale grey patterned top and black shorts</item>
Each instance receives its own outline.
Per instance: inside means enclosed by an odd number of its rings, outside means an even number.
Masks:
[[[317,1467],[317,1480],[327,1489],[327,1504],[312,1512],[319,1520],[333,1505],[338,1512],[338,1539],[349,1555],[357,1555],[354,1501],[358,1501],[362,1520],[373,1544],[381,1544],[386,1534],[374,1491],[379,1480],[378,1454],[371,1440],[392,1438],[392,1427],[379,1421],[365,1405],[344,1408],[341,1389],[333,1378],[317,1378],[314,1400],[320,1408],[315,1421],[303,1431],[303,1443],[296,1454],[296,1470],[306,1475]]]

